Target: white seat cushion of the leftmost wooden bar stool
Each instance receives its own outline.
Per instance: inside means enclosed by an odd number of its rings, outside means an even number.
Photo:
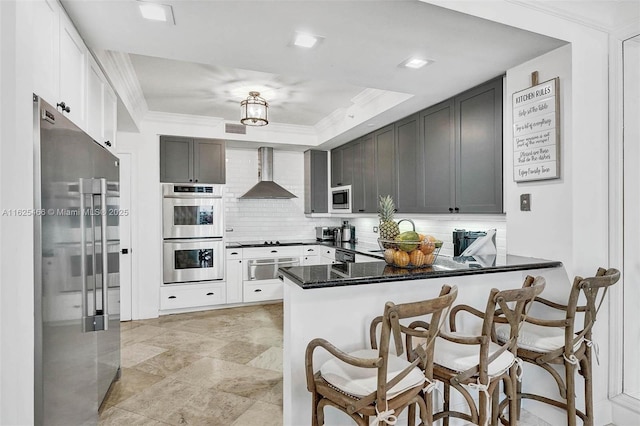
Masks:
[[[377,349],[362,349],[349,355],[357,358],[378,358]],[[389,354],[387,382],[407,368],[411,363],[406,359]],[[361,368],[332,358],[320,367],[322,377],[335,388],[349,395],[364,397],[377,390],[378,369]],[[421,386],[425,382],[424,373],[417,366],[393,388],[387,391],[391,399],[402,392]]]

